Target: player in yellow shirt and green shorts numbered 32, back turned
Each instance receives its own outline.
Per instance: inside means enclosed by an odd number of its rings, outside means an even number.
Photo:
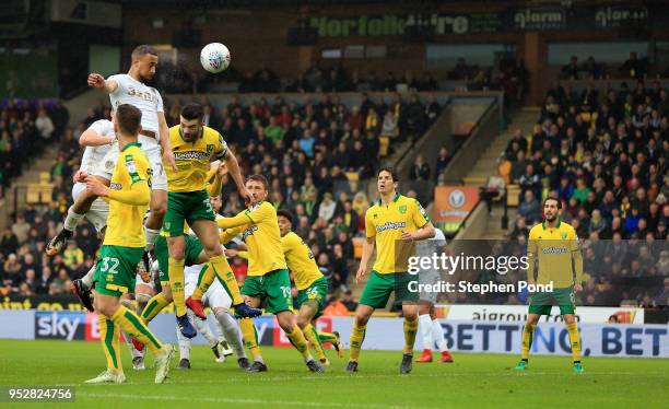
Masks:
[[[120,303],[120,296],[134,289],[137,265],[142,259],[146,238],[142,219],[151,199],[149,160],[137,143],[142,113],[132,105],[116,108],[114,124],[120,153],[109,187],[93,176],[86,189],[109,201],[107,232],[95,270],[95,311],[98,313],[99,339],[107,357],[107,370],[90,384],[126,381],[120,362],[119,330],[148,346],[155,358],[155,383],[167,377],[174,355],[171,344],[163,344],[142,320]]]

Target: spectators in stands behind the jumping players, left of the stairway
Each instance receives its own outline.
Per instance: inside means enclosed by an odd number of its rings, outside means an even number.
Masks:
[[[379,161],[379,137],[406,139],[422,133],[436,119],[441,106],[418,96],[390,102],[364,96],[360,106],[347,107],[336,95],[297,105],[281,97],[261,97],[249,105],[238,98],[216,109],[207,97],[204,121],[224,135],[244,174],[268,176],[270,200],[295,217],[294,231],[312,248],[316,261],[329,278],[331,314],[354,311],[348,289],[353,267],[352,238],[364,230],[369,200],[362,182],[352,190],[347,174],[360,180],[373,176]],[[165,98],[168,125],[178,124],[178,100]],[[83,276],[98,249],[90,223],[82,223],[72,242],[55,258],[44,256],[48,237],[56,233],[71,203],[72,175],[79,168],[82,150],[78,139],[93,121],[109,116],[104,101],[91,108],[77,129],[60,140],[59,155],[51,167],[51,202],[46,208],[28,206],[0,237],[0,292],[4,294],[60,294],[69,292],[70,280]],[[244,203],[232,180],[224,180],[221,213],[239,212]],[[243,281],[246,262],[233,257],[231,267]]]

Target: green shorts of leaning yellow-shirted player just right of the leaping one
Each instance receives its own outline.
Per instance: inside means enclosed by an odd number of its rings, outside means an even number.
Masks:
[[[291,277],[286,269],[273,270],[265,276],[247,276],[239,292],[262,300],[267,312],[277,314],[293,308]]]

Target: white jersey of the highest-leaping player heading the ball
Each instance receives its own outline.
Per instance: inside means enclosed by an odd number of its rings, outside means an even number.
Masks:
[[[142,112],[142,128],[155,132],[157,139],[160,129],[157,113],[164,112],[161,93],[128,74],[111,75],[107,80],[114,80],[118,84],[109,94],[111,106],[130,104],[139,108]]]

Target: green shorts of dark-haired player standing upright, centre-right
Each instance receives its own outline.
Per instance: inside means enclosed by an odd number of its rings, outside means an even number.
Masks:
[[[384,308],[388,304],[390,293],[394,291],[396,303],[418,303],[420,293],[418,291],[410,291],[409,283],[411,282],[416,283],[415,289],[418,290],[416,274],[408,272],[382,274],[372,270],[372,276],[369,276],[369,280],[360,296],[360,304],[368,305],[373,308]]]

